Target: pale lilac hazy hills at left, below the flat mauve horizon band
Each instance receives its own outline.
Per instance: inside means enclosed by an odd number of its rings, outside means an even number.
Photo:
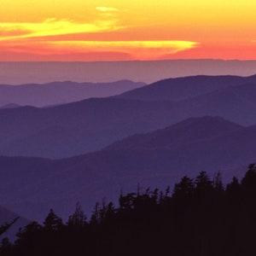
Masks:
[[[91,97],[118,95],[145,85],[130,80],[113,83],[75,83],[72,81],[49,84],[0,84],[0,106],[18,104],[44,107],[78,102]]]

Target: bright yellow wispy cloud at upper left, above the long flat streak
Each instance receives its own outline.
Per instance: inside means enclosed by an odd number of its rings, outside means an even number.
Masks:
[[[41,23],[0,23],[0,41],[21,38],[38,38],[74,33],[108,32],[124,28],[118,20],[94,20],[90,23],[76,23],[73,20],[50,18]]]

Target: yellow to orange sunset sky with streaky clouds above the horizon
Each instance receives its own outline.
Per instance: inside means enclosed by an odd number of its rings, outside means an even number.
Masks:
[[[255,0],[0,0],[0,61],[256,60]]]

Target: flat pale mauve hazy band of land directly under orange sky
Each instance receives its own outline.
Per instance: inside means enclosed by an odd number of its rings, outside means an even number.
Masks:
[[[161,79],[202,75],[255,73],[256,61],[165,60],[165,61],[55,61],[1,62],[1,84],[35,84],[52,81],[100,82],[130,79],[147,84]]]

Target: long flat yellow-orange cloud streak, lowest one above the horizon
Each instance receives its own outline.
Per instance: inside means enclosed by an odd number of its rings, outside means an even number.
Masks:
[[[48,56],[49,60],[158,60],[200,44],[190,41],[3,41],[0,49],[10,54]]]

